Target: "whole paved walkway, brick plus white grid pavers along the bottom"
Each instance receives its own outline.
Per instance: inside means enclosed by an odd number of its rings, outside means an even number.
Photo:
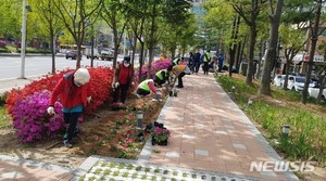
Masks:
[[[251,161],[281,159],[212,75],[186,76],[184,85],[159,116],[172,131],[167,146],[148,141],[138,160],[90,156],[74,170],[0,157],[0,180],[299,180],[250,171]]]

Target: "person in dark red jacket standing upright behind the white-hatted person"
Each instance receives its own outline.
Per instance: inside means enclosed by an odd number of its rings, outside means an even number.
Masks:
[[[125,103],[128,89],[133,86],[134,66],[130,64],[130,56],[125,56],[123,63],[115,69],[114,80],[112,82],[113,103]]]

